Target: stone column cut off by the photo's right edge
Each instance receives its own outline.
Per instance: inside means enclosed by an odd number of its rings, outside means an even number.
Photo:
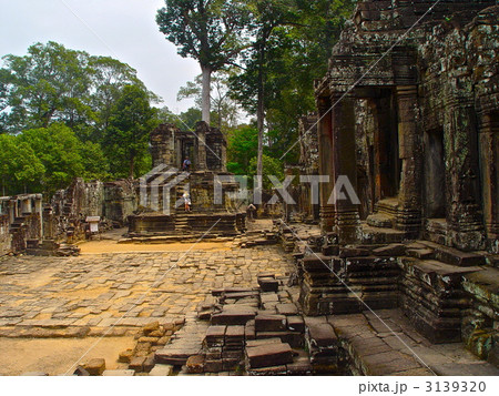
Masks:
[[[499,253],[499,114],[481,116],[480,123],[481,196],[489,248]]]

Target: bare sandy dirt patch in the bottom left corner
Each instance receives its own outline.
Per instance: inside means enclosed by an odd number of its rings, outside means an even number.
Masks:
[[[62,375],[98,341],[98,337],[0,338],[0,375],[20,375],[28,372]],[[116,359],[120,352],[133,346],[133,337],[105,337],[89,352],[82,363],[103,357],[106,368],[115,369],[119,367]]]

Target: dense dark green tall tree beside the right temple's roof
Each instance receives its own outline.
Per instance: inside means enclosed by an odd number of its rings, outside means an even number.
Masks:
[[[264,142],[281,156],[296,138],[299,116],[315,109],[313,80],[322,78],[353,0],[254,0],[254,44],[231,79],[234,98],[256,114]],[[289,159],[289,156],[287,156]],[[262,166],[262,162],[258,162]]]

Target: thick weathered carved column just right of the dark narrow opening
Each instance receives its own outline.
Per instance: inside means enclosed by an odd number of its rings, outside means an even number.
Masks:
[[[444,115],[447,223],[451,243],[464,251],[482,247],[478,136],[471,99],[447,98]]]

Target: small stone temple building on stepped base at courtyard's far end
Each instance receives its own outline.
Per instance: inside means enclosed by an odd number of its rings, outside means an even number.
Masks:
[[[198,122],[193,133],[162,124],[151,133],[151,152],[153,171],[141,181],[143,211],[129,216],[129,236],[136,241],[244,231],[245,213],[238,211],[234,195],[240,185],[226,171],[226,142],[218,129]],[[192,164],[184,172],[186,158]],[[184,210],[184,193],[191,197],[192,213]]]

